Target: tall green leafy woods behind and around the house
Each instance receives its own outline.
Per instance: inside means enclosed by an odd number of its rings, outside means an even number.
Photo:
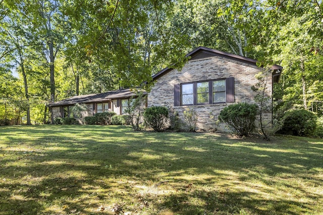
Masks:
[[[322,11],[320,0],[0,0],[0,119],[46,123],[46,104],[139,86],[198,46],[282,65],[274,111],[321,116]]]

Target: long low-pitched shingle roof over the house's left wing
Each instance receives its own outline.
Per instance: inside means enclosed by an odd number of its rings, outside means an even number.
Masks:
[[[144,92],[144,94],[147,94],[147,93]],[[130,89],[115,90],[115,91],[109,91],[105,93],[73,96],[73,97],[64,99],[62,101],[53,102],[48,106],[55,107],[55,106],[61,106],[61,105],[74,105],[76,103],[102,102],[102,101],[109,101],[112,99],[130,98],[135,95],[136,95],[136,92],[130,91]]]

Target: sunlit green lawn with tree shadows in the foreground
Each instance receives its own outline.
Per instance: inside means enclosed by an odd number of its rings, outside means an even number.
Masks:
[[[0,127],[0,214],[323,214],[323,140]]]

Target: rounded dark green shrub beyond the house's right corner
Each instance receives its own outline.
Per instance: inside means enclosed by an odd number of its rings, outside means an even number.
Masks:
[[[296,136],[314,134],[316,115],[308,110],[290,110],[283,117],[283,127],[280,133]]]

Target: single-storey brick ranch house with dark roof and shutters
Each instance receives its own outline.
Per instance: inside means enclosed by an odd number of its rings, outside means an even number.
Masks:
[[[167,67],[152,77],[155,83],[146,93],[147,107],[169,107],[179,114],[181,121],[184,121],[184,110],[193,108],[198,114],[197,128],[207,130],[213,126],[211,118],[217,118],[227,105],[255,103],[251,86],[258,83],[255,75],[264,69],[256,65],[256,60],[202,46],[186,57],[189,60],[181,70]],[[279,65],[272,66],[267,96],[272,96],[273,85],[279,81],[282,69]],[[83,117],[105,111],[123,114],[132,96],[135,93],[129,89],[117,90],[74,96],[48,106],[53,118],[70,116],[70,108],[76,103],[87,105]],[[272,112],[264,113],[263,118],[271,120]]]

